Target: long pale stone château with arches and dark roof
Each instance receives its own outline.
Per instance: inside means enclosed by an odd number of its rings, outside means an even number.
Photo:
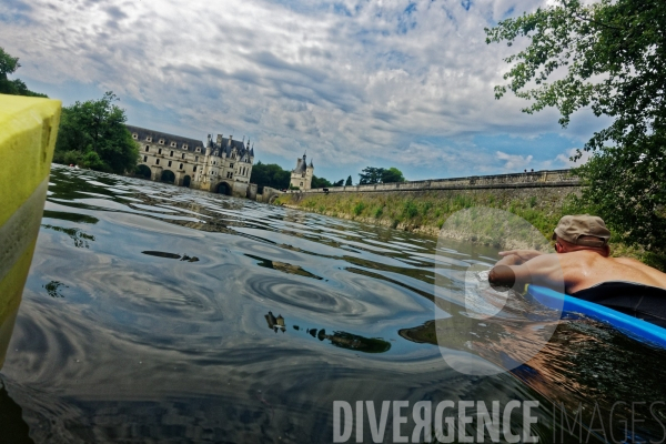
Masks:
[[[139,144],[139,168],[154,181],[173,182],[235,196],[250,195],[254,148],[250,140],[211,134],[205,145],[198,140],[127,125]],[[143,167],[142,167],[143,165]],[[255,186],[254,192],[255,192]]]

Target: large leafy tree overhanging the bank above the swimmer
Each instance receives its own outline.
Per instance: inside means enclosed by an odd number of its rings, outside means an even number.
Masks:
[[[525,49],[505,59],[508,84],[495,88],[571,115],[589,109],[610,118],[583,147],[595,154],[577,173],[583,199],[628,243],[666,245],[666,2],[559,0],[486,29],[488,43]],[[575,157],[576,159],[579,158]]]

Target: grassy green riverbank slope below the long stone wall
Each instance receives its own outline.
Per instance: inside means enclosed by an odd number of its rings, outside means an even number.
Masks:
[[[504,210],[527,221],[545,239],[565,214],[594,213],[577,199],[577,188],[506,189],[506,190],[437,190],[393,193],[330,193],[284,194],[276,204],[335,218],[375,223],[398,230],[437,236],[442,228],[448,229],[448,218],[464,209],[490,208]],[[527,243],[518,229],[511,223],[497,223],[487,212],[482,218],[468,219],[468,224],[456,223],[455,233],[448,235],[464,241],[492,244],[502,249],[545,249],[545,242]],[[517,219],[516,219],[517,220]],[[615,241],[615,242],[614,242]],[[666,260],[646,252],[640,246],[618,243],[612,239],[613,255],[638,259],[660,270]]]

